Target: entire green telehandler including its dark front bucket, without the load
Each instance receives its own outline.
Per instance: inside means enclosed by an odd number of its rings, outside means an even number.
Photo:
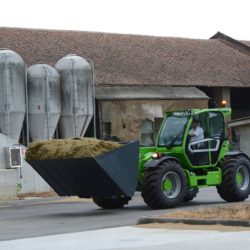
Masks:
[[[152,209],[172,208],[208,186],[216,186],[225,201],[244,201],[250,159],[230,151],[230,114],[229,108],[167,112],[155,147],[135,141],[97,157],[28,162],[60,196],[93,198],[104,209],[122,208],[135,191]],[[191,133],[194,121],[200,138]]]

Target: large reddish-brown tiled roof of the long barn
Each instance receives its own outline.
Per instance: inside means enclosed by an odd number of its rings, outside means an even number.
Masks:
[[[0,28],[0,47],[28,65],[90,58],[98,85],[250,87],[250,57],[218,39]]]

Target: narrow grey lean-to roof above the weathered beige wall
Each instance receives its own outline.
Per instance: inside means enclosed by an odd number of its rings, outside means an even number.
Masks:
[[[178,99],[208,99],[195,87],[172,86],[133,86],[133,87],[101,87],[96,89],[99,100],[178,100]]]

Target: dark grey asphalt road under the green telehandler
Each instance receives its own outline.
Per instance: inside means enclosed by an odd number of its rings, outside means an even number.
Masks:
[[[177,209],[197,209],[200,205],[224,203],[214,188],[203,189],[195,201]],[[21,204],[21,205],[20,205]],[[139,217],[173,211],[150,210],[139,195],[124,209],[103,210],[92,202],[50,202],[0,208],[0,240],[22,239],[43,235],[81,232],[136,224]]]

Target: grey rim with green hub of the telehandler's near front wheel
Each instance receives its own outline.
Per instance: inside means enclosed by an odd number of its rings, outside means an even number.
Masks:
[[[168,172],[162,178],[162,191],[163,194],[169,198],[173,199],[178,196],[181,190],[181,179],[175,172]]]

